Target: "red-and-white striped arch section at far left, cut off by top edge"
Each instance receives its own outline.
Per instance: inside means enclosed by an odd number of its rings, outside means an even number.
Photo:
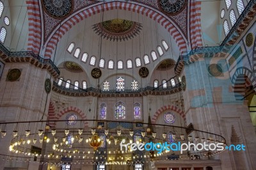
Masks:
[[[28,5],[28,49],[35,54],[39,54],[41,40],[42,40],[42,27],[40,5],[38,0],[26,1]]]

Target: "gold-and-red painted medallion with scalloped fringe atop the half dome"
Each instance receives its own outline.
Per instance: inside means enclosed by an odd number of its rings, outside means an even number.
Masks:
[[[112,19],[93,25],[92,29],[97,35],[113,40],[128,40],[140,33],[142,25],[138,22],[124,19]]]

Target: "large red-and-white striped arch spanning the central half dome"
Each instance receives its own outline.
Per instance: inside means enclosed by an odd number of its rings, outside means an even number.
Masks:
[[[165,29],[170,32],[170,35],[174,38],[177,43],[180,52],[184,52],[187,50],[186,47],[186,39],[184,35],[180,33],[180,31],[172,24],[172,21],[168,19],[165,15],[158,12],[154,8],[150,8],[145,4],[139,3],[125,3],[125,2],[109,2],[103,4],[96,4],[95,6],[90,6],[90,8],[85,8],[82,12],[74,14],[70,19],[66,20],[58,29],[56,29],[54,35],[49,38],[47,41],[46,49],[45,49],[45,57],[51,58],[52,53],[56,47],[58,41],[60,41],[61,37],[68,32],[68,30],[79,23],[81,20],[86,19],[96,13],[102,12],[102,10],[129,10],[132,12],[141,13],[141,15],[146,15],[151,19],[156,20],[159,24],[161,24]]]

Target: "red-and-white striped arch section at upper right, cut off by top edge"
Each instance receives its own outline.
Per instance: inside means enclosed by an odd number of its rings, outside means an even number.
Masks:
[[[201,1],[191,1],[189,20],[191,47],[195,49],[203,45],[201,35]]]

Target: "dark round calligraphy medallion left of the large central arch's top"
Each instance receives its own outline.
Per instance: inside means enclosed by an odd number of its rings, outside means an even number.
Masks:
[[[47,12],[54,17],[65,17],[72,10],[71,0],[44,0]]]

